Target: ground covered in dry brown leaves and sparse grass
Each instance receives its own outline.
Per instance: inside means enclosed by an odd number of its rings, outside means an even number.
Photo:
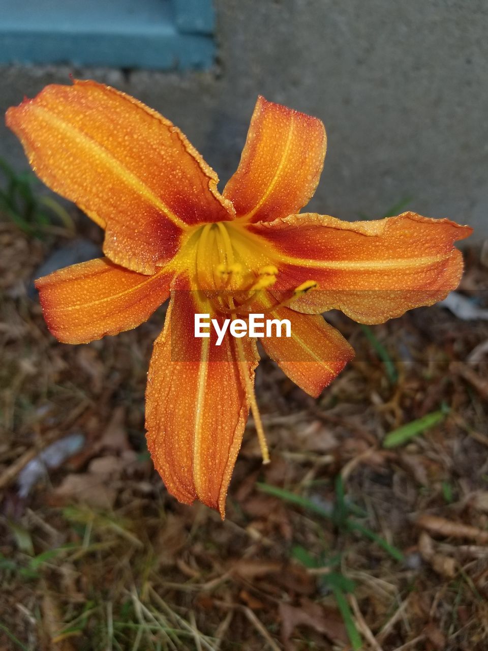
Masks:
[[[54,230],[0,223],[0,649],[488,648],[488,322],[328,314],[357,357],[318,400],[263,359],[272,463],[250,419],[222,522],[170,497],[145,447],[164,308],[88,345],[49,335],[26,287],[73,229]],[[487,268],[466,258],[482,301]],[[30,486],[68,435],[74,456]]]

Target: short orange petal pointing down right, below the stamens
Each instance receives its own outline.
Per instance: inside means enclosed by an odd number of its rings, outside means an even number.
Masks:
[[[320,315],[280,307],[269,312],[267,318],[288,319],[291,337],[264,337],[264,350],[290,380],[314,398],[354,357],[346,339]]]

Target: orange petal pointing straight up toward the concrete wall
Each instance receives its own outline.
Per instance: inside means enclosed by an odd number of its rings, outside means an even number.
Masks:
[[[298,212],[315,192],[326,147],[318,118],[260,96],[241,162],[223,195],[237,217],[253,222]]]

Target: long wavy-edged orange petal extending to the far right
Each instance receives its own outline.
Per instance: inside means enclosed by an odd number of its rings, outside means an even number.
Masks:
[[[293,309],[317,313],[336,308],[367,324],[445,298],[463,273],[463,257],[454,242],[472,232],[449,219],[412,212],[352,223],[327,215],[290,215],[249,229],[275,249],[280,273],[273,290],[318,283],[316,290],[293,301]]]

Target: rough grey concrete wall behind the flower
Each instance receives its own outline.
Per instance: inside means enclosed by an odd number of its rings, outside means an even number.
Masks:
[[[408,208],[488,236],[486,0],[217,0],[216,10],[210,72],[3,68],[0,108],[69,72],[94,77],[173,120],[226,180],[261,93],[325,122],[312,210],[381,217],[411,197]],[[20,164],[14,137],[2,131],[0,143]]]

